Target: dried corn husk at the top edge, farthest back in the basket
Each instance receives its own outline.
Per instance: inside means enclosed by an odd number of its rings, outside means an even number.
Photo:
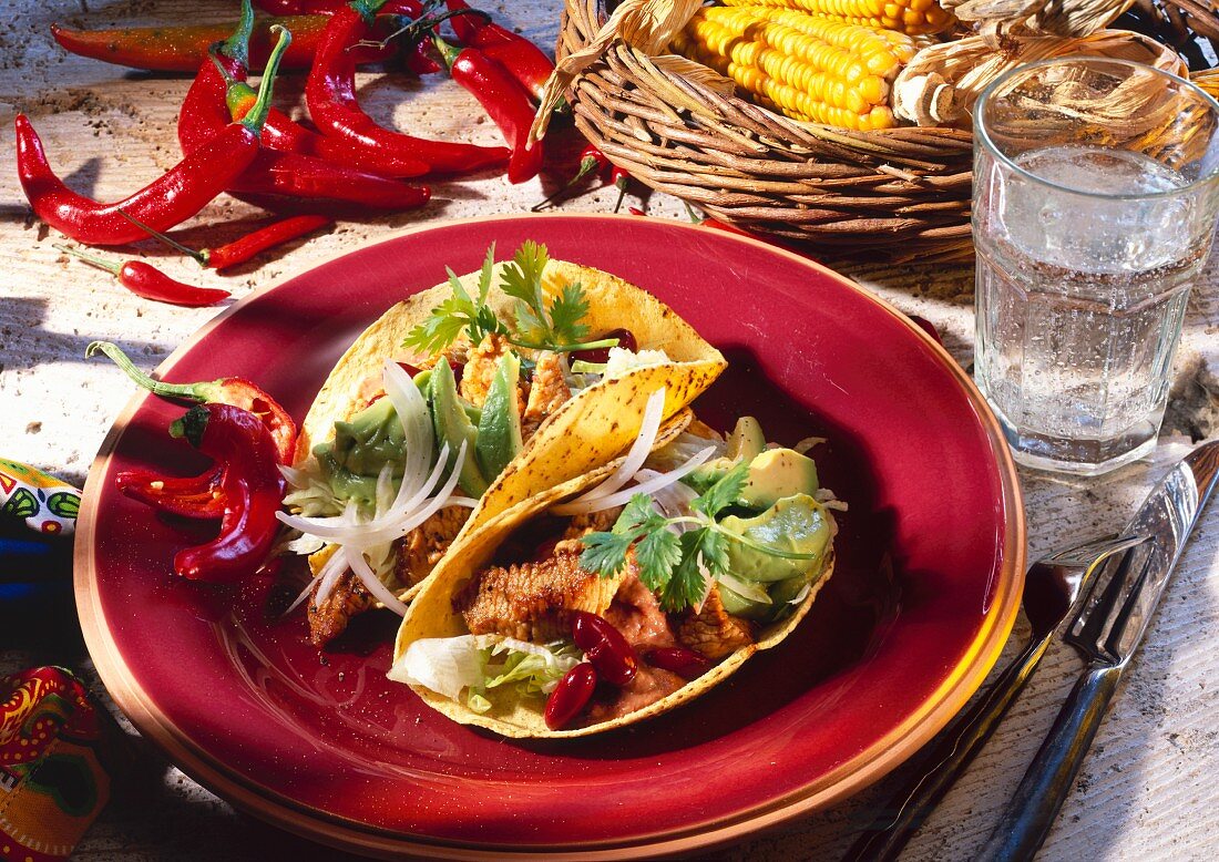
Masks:
[[[991,45],[1009,35],[1084,37],[1108,27],[1135,0],[940,0]]]

